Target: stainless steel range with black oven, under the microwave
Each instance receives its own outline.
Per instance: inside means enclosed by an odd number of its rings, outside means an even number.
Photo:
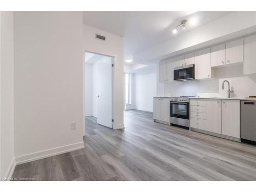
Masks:
[[[180,96],[170,98],[170,124],[189,130],[189,98]]]

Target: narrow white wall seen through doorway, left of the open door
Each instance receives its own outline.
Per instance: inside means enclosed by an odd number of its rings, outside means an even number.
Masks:
[[[93,66],[91,63],[85,63],[84,68],[84,109],[85,115],[93,115]]]

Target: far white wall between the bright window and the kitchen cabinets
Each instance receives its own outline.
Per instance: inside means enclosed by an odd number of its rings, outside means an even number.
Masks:
[[[153,112],[153,96],[157,94],[156,68],[134,74],[136,109]]]

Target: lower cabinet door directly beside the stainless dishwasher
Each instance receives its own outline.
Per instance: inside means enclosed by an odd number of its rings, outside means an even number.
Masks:
[[[240,101],[222,99],[221,134],[240,138]]]

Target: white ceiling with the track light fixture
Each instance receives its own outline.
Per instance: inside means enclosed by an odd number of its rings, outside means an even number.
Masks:
[[[84,11],[83,23],[123,36],[124,59],[161,42],[187,32],[231,12],[228,11]],[[186,25],[173,34],[183,19],[195,18],[197,24]],[[143,62],[141,62],[143,63]],[[136,64],[136,63],[131,63]],[[145,63],[143,63],[145,64]]]

